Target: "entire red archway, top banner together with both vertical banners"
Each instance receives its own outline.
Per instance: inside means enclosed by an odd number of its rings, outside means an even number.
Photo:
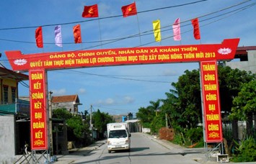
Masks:
[[[45,71],[110,65],[200,62],[206,120],[206,142],[222,142],[219,86],[216,60],[232,60],[239,38],[221,44],[128,47],[102,50],[76,50],[22,55],[6,51],[13,70],[30,72],[31,149],[48,148]]]

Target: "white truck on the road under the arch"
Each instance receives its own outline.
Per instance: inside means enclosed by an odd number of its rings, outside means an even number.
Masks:
[[[107,150],[128,150],[131,148],[131,134],[128,124],[116,122],[107,124]]]

